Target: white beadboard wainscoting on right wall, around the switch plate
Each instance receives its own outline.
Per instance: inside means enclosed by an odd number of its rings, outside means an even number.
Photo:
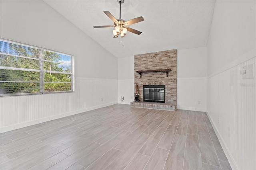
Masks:
[[[207,80],[207,113],[233,169],[256,168],[256,57]],[[242,66],[254,63],[254,78]]]

